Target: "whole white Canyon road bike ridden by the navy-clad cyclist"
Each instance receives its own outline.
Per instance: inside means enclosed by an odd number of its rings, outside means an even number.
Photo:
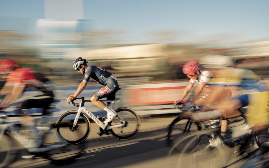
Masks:
[[[81,99],[80,103],[75,103],[76,99]],[[115,98],[113,101],[104,100],[103,102],[111,102],[111,106],[114,106],[115,101],[119,101],[119,98]],[[111,122],[103,124],[101,120],[106,117],[101,117],[99,114],[95,116],[89,109],[84,106],[85,102],[91,102],[90,100],[84,100],[84,97],[78,97],[73,99],[72,104],[79,107],[78,111],[72,110],[63,113],[56,121],[57,124],[68,124],[66,127],[56,128],[56,133],[59,139],[68,144],[79,144],[87,139],[90,134],[90,120],[84,114],[86,113],[95,123],[100,126],[100,132],[98,135],[109,135],[119,140],[129,140],[137,135],[141,126],[141,119],[137,113],[127,107],[118,108],[115,111],[118,116],[115,117]],[[84,112],[84,113],[83,113]],[[75,133],[79,130],[80,136],[70,134]],[[77,136],[76,140],[71,140]]]

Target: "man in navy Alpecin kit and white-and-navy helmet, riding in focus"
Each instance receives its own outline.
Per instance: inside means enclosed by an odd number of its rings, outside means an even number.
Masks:
[[[95,92],[94,95],[91,96],[90,100],[94,105],[107,111],[107,119],[105,120],[105,123],[109,123],[117,116],[117,113],[113,109],[109,108],[109,104],[107,106],[104,102],[99,101],[99,99],[106,97],[108,100],[114,100],[115,93],[119,88],[119,83],[114,74],[101,67],[94,65],[88,66],[87,63],[86,59],[82,59],[81,57],[74,61],[73,68],[81,74],[85,73],[85,76],[77,88],[77,91],[73,95],[69,95],[66,100],[67,102],[70,102],[75,99],[87,86],[87,82],[90,78],[92,78],[97,83],[104,85],[104,87]]]

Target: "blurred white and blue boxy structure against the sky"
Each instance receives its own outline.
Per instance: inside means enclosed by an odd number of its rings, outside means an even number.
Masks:
[[[38,19],[37,30],[40,57],[66,59],[74,57],[88,43],[83,33],[89,31],[90,20],[83,19]]]

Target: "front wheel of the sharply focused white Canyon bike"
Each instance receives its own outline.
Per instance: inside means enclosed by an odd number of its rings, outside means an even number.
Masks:
[[[90,120],[85,114],[80,113],[77,125],[73,127],[76,115],[76,110],[68,111],[63,113],[56,121],[56,134],[62,142],[71,145],[79,144],[89,136]]]

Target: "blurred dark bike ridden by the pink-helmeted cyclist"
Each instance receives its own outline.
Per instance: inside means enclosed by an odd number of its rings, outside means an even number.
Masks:
[[[184,103],[179,106],[179,109],[182,109],[183,105]],[[189,153],[196,151],[199,146],[199,149],[216,147],[218,144],[210,144],[210,142],[213,139],[217,139],[219,144],[224,143],[229,147],[240,144],[240,151],[243,152],[246,146],[254,143],[254,138],[258,138],[258,136],[253,135],[251,126],[247,125],[245,115],[242,111],[240,111],[240,116],[227,119],[231,137],[224,139],[221,137],[220,131],[220,123],[222,119],[222,117],[220,117],[221,114],[217,110],[198,112],[200,110],[202,110],[202,108],[190,109],[187,112],[181,113],[179,117],[172,121],[169,126],[167,138],[168,145],[172,151]],[[195,140],[193,140],[193,136],[191,136],[191,134],[208,130],[210,130],[211,134],[206,136],[206,138],[198,136]],[[185,143],[188,143],[188,145],[184,144],[184,141],[180,141],[180,143],[178,143],[181,138],[185,138]],[[176,141],[178,143],[177,145],[175,145]],[[190,144],[190,142],[192,142],[192,144]],[[201,144],[201,142],[203,143]]]

